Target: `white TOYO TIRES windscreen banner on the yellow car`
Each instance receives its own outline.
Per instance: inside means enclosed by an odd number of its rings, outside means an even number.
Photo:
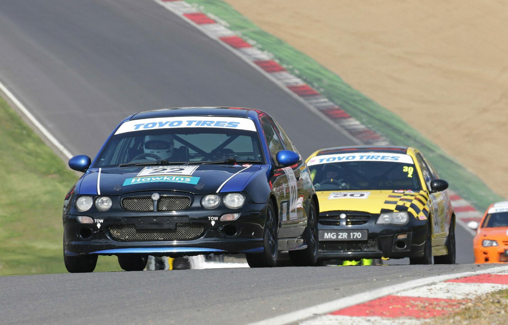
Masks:
[[[309,159],[307,166],[340,163],[343,161],[392,161],[394,163],[414,164],[411,156],[400,153],[376,152],[372,153],[340,153],[315,156]]]

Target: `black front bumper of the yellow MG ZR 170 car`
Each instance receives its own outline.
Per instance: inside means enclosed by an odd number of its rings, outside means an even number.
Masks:
[[[339,224],[330,215],[352,213],[364,215],[364,224]],[[428,220],[418,220],[409,216],[405,225],[376,224],[379,214],[365,212],[339,211],[322,212],[319,220],[319,230],[367,230],[366,240],[320,240],[317,257],[326,259],[360,259],[360,258],[405,258],[419,257],[424,253],[427,236]],[[356,221],[357,223],[359,221]],[[352,222],[355,223],[355,222]]]

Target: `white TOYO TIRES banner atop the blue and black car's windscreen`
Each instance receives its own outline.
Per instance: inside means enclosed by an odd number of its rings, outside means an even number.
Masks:
[[[244,117],[222,117],[222,116],[178,116],[144,118],[140,120],[126,121],[116,130],[115,134],[133,131],[144,131],[147,129],[160,128],[182,128],[182,127],[203,127],[203,128],[236,128],[247,131],[256,131],[256,125],[251,119]]]

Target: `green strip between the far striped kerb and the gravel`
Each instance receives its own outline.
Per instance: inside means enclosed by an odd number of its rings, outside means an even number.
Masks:
[[[439,171],[440,177],[450,183],[450,188],[481,212],[492,202],[505,200],[492,191],[478,176],[448,156],[439,146],[422,136],[399,116],[353,89],[342,78],[312,58],[268,34],[229,4],[220,0],[187,0],[187,2],[195,4],[212,17],[217,17],[218,21],[227,23],[229,28],[261,50],[274,54],[275,59],[288,71],[305,80],[347,113],[373,131],[384,135],[393,144],[414,146],[421,150]],[[415,123],[428,123],[432,118],[438,117],[423,115],[415,119]],[[316,146],[317,149],[319,145]]]

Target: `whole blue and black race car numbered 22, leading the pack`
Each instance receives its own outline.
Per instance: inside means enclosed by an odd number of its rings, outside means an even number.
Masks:
[[[317,256],[317,197],[309,170],[268,114],[226,107],[162,109],[124,119],[63,205],[63,259],[92,272],[98,255],[138,271],[147,256],[244,253],[273,267]]]

